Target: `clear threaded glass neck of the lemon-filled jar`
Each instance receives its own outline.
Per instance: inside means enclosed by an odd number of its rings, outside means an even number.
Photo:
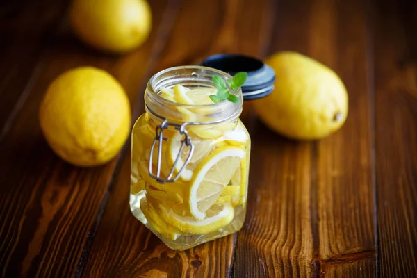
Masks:
[[[145,108],[155,120],[168,122],[198,122],[200,124],[216,124],[236,119],[242,112],[243,97],[240,89],[229,90],[238,97],[238,102],[221,101],[213,104],[179,104],[169,101],[160,95],[161,88],[172,88],[180,84],[188,88],[213,88],[213,75],[218,75],[225,81],[232,77],[211,67],[181,66],[171,67],[158,72],[147,84],[145,90]],[[208,96],[207,96],[208,97]]]

